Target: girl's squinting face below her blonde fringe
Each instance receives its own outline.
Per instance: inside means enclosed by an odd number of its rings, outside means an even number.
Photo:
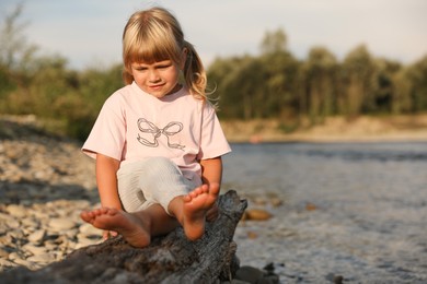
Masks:
[[[180,90],[180,67],[171,60],[147,64],[134,62],[131,73],[137,85],[146,93],[162,98]]]

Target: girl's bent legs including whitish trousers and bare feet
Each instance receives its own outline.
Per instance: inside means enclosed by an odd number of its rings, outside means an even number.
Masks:
[[[97,228],[119,233],[135,247],[148,246],[151,236],[166,234],[180,224],[189,239],[198,239],[205,233],[206,212],[219,194],[219,185],[194,189],[177,166],[163,157],[122,168],[118,181],[124,208],[131,213],[99,209],[83,212],[81,217]]]

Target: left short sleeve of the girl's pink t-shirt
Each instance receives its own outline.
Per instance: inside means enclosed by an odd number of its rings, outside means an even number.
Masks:
[[[109,97],[83,144],[82,151],[95,158],[96,153],[122,161],[126,141],[126,120],[118,97]]]

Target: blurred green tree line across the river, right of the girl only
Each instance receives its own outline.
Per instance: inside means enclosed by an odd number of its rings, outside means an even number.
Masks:
[[[261,56],[217,59],[210,66],[223,118],[318,123],[328,116],[427,111],[427,55],[404,66],[376,58],[360,45],[342,61],[325,47],[313,47],[298,60],[286,38],[280,28],[267,32]]]

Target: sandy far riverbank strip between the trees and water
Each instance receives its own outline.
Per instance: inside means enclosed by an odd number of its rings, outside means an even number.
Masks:
[[[427,115],[396,117],[326,118],[321,125],[301,127],[290,133],[278,120],[221,121],[230,142],[369,142],[427,141]],[[305,123],[308,125],[308,123]]]

